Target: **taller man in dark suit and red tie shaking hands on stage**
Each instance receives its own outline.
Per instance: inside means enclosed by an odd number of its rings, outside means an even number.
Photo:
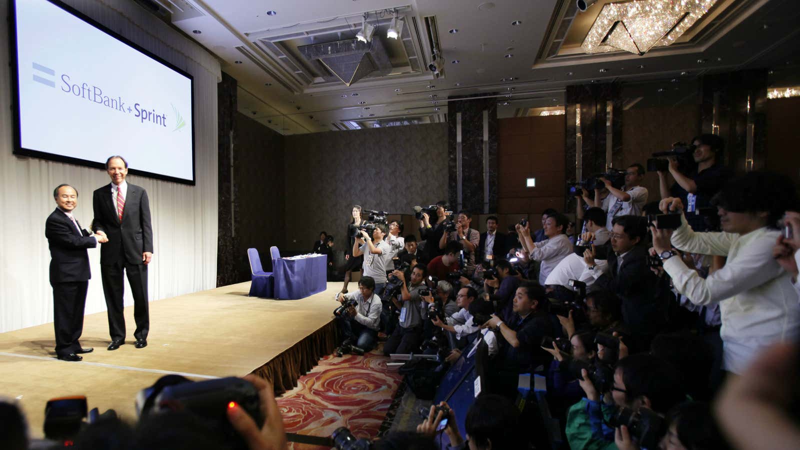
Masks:
[[[100,275],[106,295],[108,327],[111,335],[109,350],[125,344],[125,316],[122,295],[128,275],[134,296],[136,348],[147,346],[150,331],[150,312],[147,305],[147,264],[153,258],[153,226],[150,223],[150,201],[147,192],[125,181],[128,163],[122,156],[106,160],[109,185],[94,191],[94,231],[105,231],[109,242],[100,249]]]

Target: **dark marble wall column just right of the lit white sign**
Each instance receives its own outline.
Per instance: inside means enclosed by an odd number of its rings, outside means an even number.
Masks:
[[[622,156],[622,96],[617,83],[566,86],[565,179],[574,180],[580,167],[582,179],[618,167]],[[580,106],[580,139],[576,113]],[[609,133],[610,130],[610,133]],[[580,145],[578,147],[578,141]],[[612,159],[607,159],[609,150]],[[570,211],[566,199],[566,211]]]

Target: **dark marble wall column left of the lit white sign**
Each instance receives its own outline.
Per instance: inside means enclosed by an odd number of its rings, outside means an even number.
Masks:
[[[486,94],[481,94],[484,95]],[[450,207],[476,214],[497,211],[497,98],[470,99],[469,96],[448,98],[447,127],[449,173],[447,201]],[[488,195],[486,195],[486,183],[488,183]]]

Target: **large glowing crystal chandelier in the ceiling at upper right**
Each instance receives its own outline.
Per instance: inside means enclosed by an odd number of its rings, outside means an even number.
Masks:
[[[668,46],[718,0],[633,0],[606,3],[582,48],[586,53],[625,50],[645,54]]]

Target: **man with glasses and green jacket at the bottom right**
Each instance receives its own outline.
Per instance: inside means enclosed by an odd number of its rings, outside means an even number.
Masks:
[[[579,383],[586,397],[570,408],[566,419],[570,448],[617,448],[614,430],[606,425],[617,408],[634,412],[646,408],[664,416],[670,408],[686,400],[680,374],[657,356],[642,353],[619,361],[610,391],[613,406],[602,404],[600,396],[608,393],[598,392],[586,369],[582,373],[583,380]]]

